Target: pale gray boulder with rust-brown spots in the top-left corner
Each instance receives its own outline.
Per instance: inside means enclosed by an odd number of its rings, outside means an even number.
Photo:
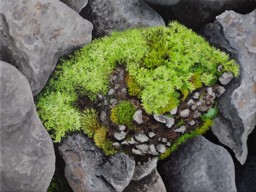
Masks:
[[[92,23],[59,0],[0,0],[1,50],[30,83],[45,86],[59,57],[91,42]]]

